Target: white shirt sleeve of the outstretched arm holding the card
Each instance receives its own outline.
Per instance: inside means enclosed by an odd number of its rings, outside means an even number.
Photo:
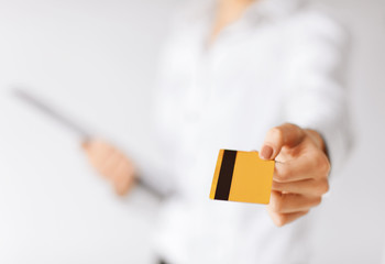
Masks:
[[[285,119],[323,138],[337,174],[351,147],[348,94],[344,87],[348,34],[321,14],[304,14],[288,25]]]

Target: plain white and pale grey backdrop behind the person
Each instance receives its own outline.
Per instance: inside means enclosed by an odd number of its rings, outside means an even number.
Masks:
[[[315,2],[351,33],[356,138],[317,209],[316,263],[382,263],[385,1]],[[79,139],[10,87],[26,87],[128,153],[145,147],[160,51],[182,3],[0,0],[0,263],[153,263],[158,199],[143,188],[118,198]]]

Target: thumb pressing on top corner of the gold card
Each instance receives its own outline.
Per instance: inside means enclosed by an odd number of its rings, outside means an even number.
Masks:
[[[260,157],[263,160],[274,160],[283,146],[296,146],[305,138],[305,132],[298,125],[284,123],[271,129],[261,147]]]

